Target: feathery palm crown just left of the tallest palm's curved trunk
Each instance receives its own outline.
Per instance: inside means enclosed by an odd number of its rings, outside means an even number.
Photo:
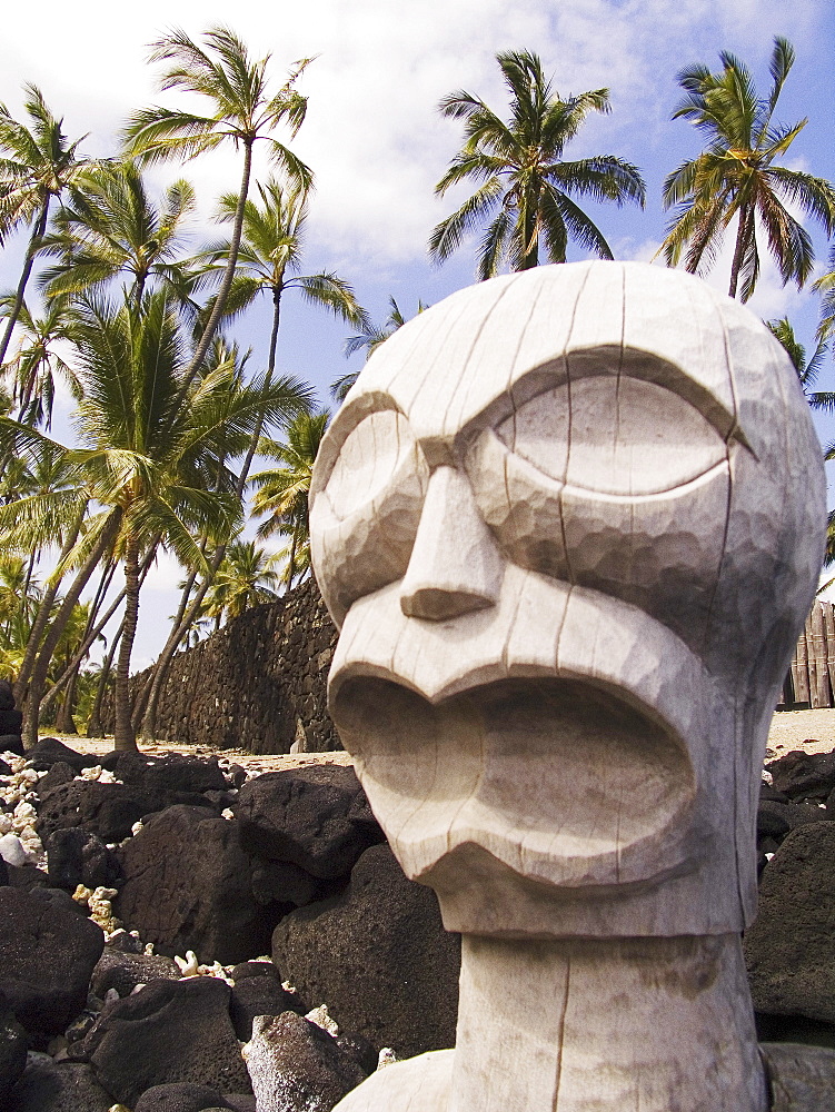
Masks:
[[[148,197],[142,175],[130,160],[88,170],[80,183],[82,192],[64,205],[54,232],[43,241],[42,254],[61,257],[40,276],[47,295],[99,290],[123,274],[137,301],[152,280],[196,309],[196,279],[178,258],[182,221],[195,209],[189,182],[170,185],[160,206]]]

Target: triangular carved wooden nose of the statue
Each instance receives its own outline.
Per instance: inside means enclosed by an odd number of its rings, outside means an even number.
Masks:
[[[438,467],[429,478],[400,609],[408,617],[444,622],[495,606],[503,574],[504,560],[466,475]]]

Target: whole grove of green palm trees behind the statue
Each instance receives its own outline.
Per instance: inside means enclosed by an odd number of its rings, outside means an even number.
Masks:
[[[0,297],[0,677],[24,709],[27,745],[41,724],[100,733],[106,695],[117,748],[152,738],[173,655],[309,573],[307,492],[329,413],[309,384],[278,369],[282,316],[298,299],[334,314],[348,355],[369,355],[405,322],[391,298],[389,318],[375,324],[350,276],[317,270],[306,256],[314,169],[292,142],[312,61],[276,76],[227,27],[198,39],[172,31],[152,43],[149,61],[161,89],[201,102],[205,115],[142,108],[108,158],[64,135],[34,86],[24,89],[22,119],[0,105],[0,246],[24,245],[17,285]],[[642,172],[616,153],[571,158],[568,148],[589,113],[618,106],[607,89],[558,92],[533,52],[496,61],[505,106],[465,90],[439,105],[463,136],[436,192],[461,183],[471,192],[427,229],[430,258],[474,251],[479,279],[565,262],[569,247],[613,258],[612,234],[584,205],[643,208]],[[670,219],[658,265],[705,274],[728,232],[728,292],[743,301],[763,251],[784,285],[809,281],[812,240],[796,214],[827,237],[835,231],[832,183],[785,165],[806,122],[777,116],[793,61],[791,44],[776,39],[764,93],[726,52],[716,71],[690,64],[678,78],[673,118],[694,126],[700,150],[664,183]],[[160,193],[146,168],[217,147],[238,166],[217,200],[226,235],[189,254],[191,185],[181,178]],[[256,147],[269,155],[265,180],[255,175]],[[768,325],[809,404],[832,410],[835,393],[815,387],[835,329],[835,252],[828,270],[811,287],[821,306],[814,353],[787,319]],[[231,329],[260,299],[271,315],[267,358],[256,363]],[[335,404],[356,377],[334,381]],[[52,430],[59,385],[74,399],[69,438]],[[834,458],[835,447],[826,453]],[[153,679],[131,702],[142,585],[163,550],[182,567],[180,602]]]

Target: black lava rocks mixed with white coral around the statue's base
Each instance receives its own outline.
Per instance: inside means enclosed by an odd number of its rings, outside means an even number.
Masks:
[[[835,1046],[833,820],[835,752],[767,766],[764,1040]],[[0,831],[8,1112],[329,1112],[380,1058],[454,1042],[458,940],[350,767],[248,778],[44,738],[4,754]]]

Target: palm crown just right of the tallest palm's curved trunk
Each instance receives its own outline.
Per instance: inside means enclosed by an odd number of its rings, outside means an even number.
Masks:
[[[330,309],[351,325],[367,327],[365,310],[354,290],[336,274],[300,275],[302,234],[308,216],[308,187],[300,182],[282,186],[275,178],[258,183],[261,203],[247,200],[236,274],[227,301],[227,316],[250,306],[260,294],[272,300],[272,329],[267,366],[276,366],[281,298],[285,290],[298,289],[306,301]],[[233,221],[238,208],[235,193],[220,199],[220,219]],[[230,242],[213,244],[201,258],[212,262],[230,257]]]

